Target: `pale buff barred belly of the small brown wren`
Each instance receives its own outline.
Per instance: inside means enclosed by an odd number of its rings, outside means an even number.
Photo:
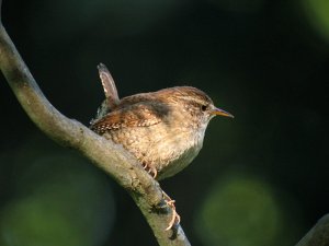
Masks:
[[[122,144],[143,164],[158,172],[157,179],[163,179],[182,171],[198,154],[204,134],[195,136],[188,130],[152,127],[111,131],[104,134]]]

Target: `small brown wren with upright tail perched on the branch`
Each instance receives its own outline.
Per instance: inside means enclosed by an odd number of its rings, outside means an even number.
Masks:
[[[186,167],[203,145],[214,116],[234,117],[204,92],[175,86],[118,98],[104,65],[99,66],[106,99],[90,128],[131,152],[157,180]]]

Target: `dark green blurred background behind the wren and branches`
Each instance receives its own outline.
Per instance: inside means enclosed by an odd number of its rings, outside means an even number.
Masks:
[[[88,125],[104,62],[121,96],[211,95],[193,164],[161,183],[194,246],[294,245],[328,212],[326,0],[3,0],[3,23],[45,95]],[[156,245],[128,195],[30,121],[0,81],[0,245]]]

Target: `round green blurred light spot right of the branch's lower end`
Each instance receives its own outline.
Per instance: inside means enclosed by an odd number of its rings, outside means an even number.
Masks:
[[[241,175],[217,181],[205,198],[195,227],[205,245],[287,245],[284,213],[270,186]],[[280,238],[281,237],[281,238]],[[280,239],[280,241],[279,241]]]

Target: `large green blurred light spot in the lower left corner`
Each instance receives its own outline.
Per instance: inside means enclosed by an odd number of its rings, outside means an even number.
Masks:
[[[0,207],[0,245],[102,245],[115,213],[106,176],[71,152],[41,154],[42,145],[24,145],[11,163],[19,168]]]

